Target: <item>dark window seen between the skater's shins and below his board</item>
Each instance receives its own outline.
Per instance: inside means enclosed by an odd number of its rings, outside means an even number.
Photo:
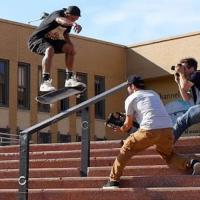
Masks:
[[[65,86],[66,71],[64,69],[58,70],[58,88]],[[60,110],[67,110],[69,108],[69,98],[65,98],[60,101]]]

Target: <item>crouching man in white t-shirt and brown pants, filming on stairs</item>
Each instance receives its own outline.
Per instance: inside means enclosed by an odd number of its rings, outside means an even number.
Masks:
[[[200,174],[200,162],[174,152],[172,122],[160,96],[153,90],[145,90],[141,77],[133,75],[128,78],[127,90],[129,96],[125,101],[126,119],[114,131],[128,131],[133,126],[134,119],[140,124],[140,128],[125,140],[112,166],[110,180],[103,188],[118,188],[128,160],[153,145],[168,165],[178,169],[192,169],[193,175]]]

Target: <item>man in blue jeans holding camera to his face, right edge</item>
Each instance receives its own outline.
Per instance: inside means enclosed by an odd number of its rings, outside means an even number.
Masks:
[[[180,60],[179,64],[172,66],[172,70],[175,70],[175,81],[183,100],[192,105],[173,127],[177,141],[187,128],[200,122],[200,71],[197,71],[197,61],[194,58]]]

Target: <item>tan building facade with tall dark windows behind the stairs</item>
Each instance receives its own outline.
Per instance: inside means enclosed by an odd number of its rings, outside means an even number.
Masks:
[[[198,59],[200,33],[123,46],[91,38],[70,35],[76,49],[75,71],[87,84],[87,92],[80,99],[71,97],[53,106],[35,101],[39,95],[42,57],[27,48],[33,26],[0,20],[0,132],[16,135],[69,107],[89,99],[124,82],[129,74],[145,78],[148,87],[160,93],[169,112],[174,104],[181,104],[178,88],[170,67],[180,58],[192,56]],[[64,55],[56,55],[51,76],[57,88],[64,85]],[[91,140],[118,139],[104,126],[110,112],[123,111],[126,90],[117,92],[89,107]],[[181,114],[178,110],[172,117]],[[80,141],[80,113],[59,121],[34,134],[35,143]],[[199,134],[198,126],[188,132]],[[126,136],[124,136],[126,137]]]

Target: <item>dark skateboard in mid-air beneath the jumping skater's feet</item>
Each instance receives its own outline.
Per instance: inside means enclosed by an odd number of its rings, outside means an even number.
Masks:
[[[86,87],[82,85],[77,87],[65,87],[37,96],[35,100],[42,104],[52,104],[73,95],[78,96],[82,94],[85,90]]]

